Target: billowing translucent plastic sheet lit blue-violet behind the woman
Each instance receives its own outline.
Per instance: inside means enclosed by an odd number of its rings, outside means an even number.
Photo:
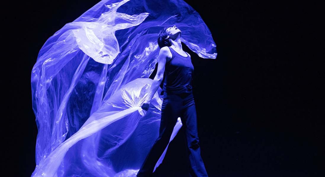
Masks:
[[[160,50],[157,33],[173,25],[193,52],[216,58],[209,29],[180,0],[103,0],[45,42],[31,76],[38,128],[32,176],[136,175],[159,135],[161,88],[148,112],[141,109]],[[178,119],[171,140],[181,125]]]

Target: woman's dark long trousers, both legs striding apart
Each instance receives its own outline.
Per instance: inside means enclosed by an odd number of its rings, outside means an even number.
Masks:
[[[190,176],[207,177],[200,154],[197,130],[197,115],[193,93],[163,95],[159,136],[154,142],[137,177],[151,177],[154,167],[167,147],[177,118],[180,117],[186,132],[187,154],[190,162]]]

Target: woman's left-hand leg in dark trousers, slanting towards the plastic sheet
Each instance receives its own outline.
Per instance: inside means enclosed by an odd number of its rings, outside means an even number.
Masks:
[[[169,99],[170,98],[170,99]],[[159,137],[154,142],[146,159],[144,160],[137,177],[152,176],[153,169],[167,147],[170,136],[173,133],[177,118],[180,116],[181,100],[177,97],[164,98],[162,102],[161,121],[159,127]]]

